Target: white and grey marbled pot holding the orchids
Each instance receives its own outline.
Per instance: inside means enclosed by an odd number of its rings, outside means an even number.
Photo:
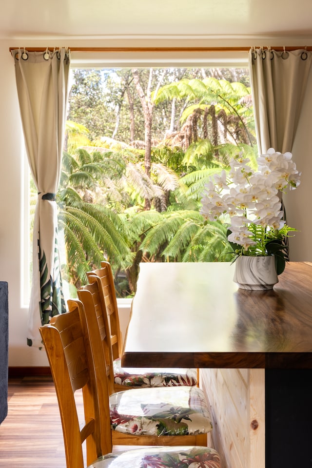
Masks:
[[[274,255],[239,256],[235,263],[234,282],[240,289],[266,291],[278,283]]]

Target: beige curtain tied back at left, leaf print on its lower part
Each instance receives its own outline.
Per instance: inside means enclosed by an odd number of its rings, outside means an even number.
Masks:
[[[13,50],[28,162],[38,189],[27,343],[41,347],[39,326],[65,312],[59,265],[56,192],[68,98],[70,53]]]

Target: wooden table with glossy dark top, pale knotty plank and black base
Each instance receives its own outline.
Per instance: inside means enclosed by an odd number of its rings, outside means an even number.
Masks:
[[[122,366],[199,368],[215,407],[228,408],[222,391],[236,392],[237,401],[234,397],[231,401],[241,405],[246,387],[245,409],[252,414],[253,405],[259,408],[254,419],[248,420],[252,427],[249,448],[244,445],[234,465],[234,451],[225,453],[227,468],[291,467],[288,439],[290,447],[300,441],[294,466],[299,466],[302,456],[300,466],[311,467],[304,460],[312,460],[312,263],[287,263],[269,291],[239,289],[233,275],[234,265],[227,262],[141,263]],[[226,426],[213,405],[212,410],[215,423]],[[241,417],[239,409],[236,413]],[[260,435],[251,449],[255,432]],[[226,451],[235,435],[227,442],[227,437],[219,435],[218,448]],[[222,440],[224,447],[220,447]],[[259,454],[263,464],[253,460]]]

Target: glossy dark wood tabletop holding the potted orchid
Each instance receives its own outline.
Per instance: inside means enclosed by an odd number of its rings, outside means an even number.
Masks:
[[[271,291],[238,289],[229,263],[143,263],[124,367],[312,368],[312,265]]]

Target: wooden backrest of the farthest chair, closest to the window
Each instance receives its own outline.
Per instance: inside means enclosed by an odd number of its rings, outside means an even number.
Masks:
[[[90,283],[98,282],[101,300],[105,302],[106,313],[109,320],[113,359],[117,359],[121,357],[122,338],[111,264],[103,261],[101,262],[101,268],[93,270],[92,272],[87,272],[87,276]]]

